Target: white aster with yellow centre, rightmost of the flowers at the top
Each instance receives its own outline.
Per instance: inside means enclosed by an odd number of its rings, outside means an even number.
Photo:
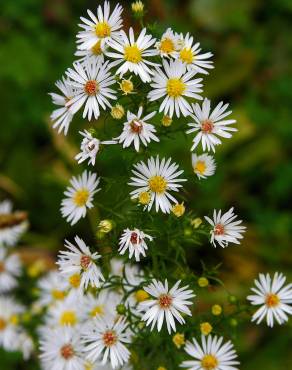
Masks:
[[[195,69],[198,73],[207,75],[209,72],[206,69],[214,68],[213,62],[210,59],[212,53],[200,54],[200,43],[194,43],[194,38],[189,33],[184,37],[181,35],[182,47],[178,53],[178,58],[186,64],[188,70]]]

